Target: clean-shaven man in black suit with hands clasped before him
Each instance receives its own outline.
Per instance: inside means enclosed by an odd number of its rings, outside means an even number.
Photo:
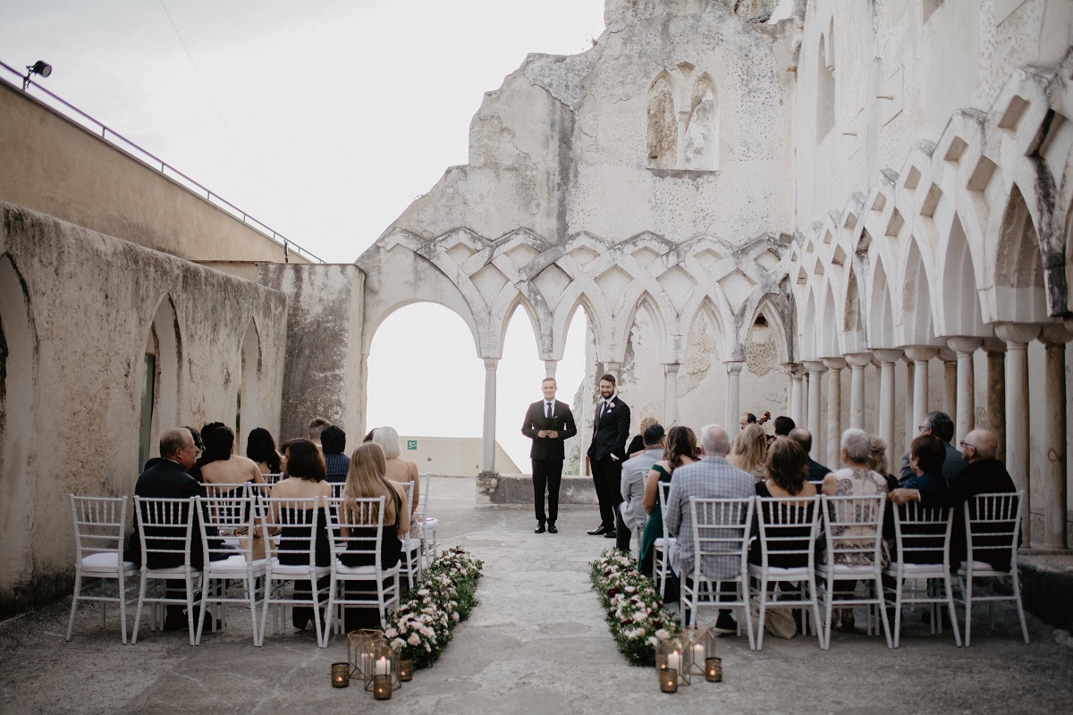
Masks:
[[[533,462],[533,506],[536,510],[536,534],[558,534],[555,520],[559,517],[559,483],[562,481],[563,442],[577,434],[570,405],[555,399],[558,386],[555,377],[541,383],[544,399],[529,405],[521,434],[533,441],[529,457]],[[547,489],[547,517],[544,516],[544,490]]]

